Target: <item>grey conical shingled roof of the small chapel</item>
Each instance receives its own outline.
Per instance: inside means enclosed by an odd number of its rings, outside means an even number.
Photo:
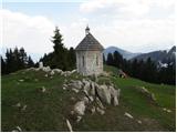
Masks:
[[[102,44],[88,32],[86,37],[75,48],[76,51],[88,50],[88,51],[103,51]]]

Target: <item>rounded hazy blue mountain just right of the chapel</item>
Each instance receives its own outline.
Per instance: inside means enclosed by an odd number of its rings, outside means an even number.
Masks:
[[[140,53],[132,53],[129,51],[122,50],[122,49],[116,48],[116,47],[108,47],[103,51],[103,53],[104,53],[105,58],[107,58],[108,53],[114,53],[115,51],[118,51],[123,55],[123,58],[125,58],[127,60],[140,54]]]

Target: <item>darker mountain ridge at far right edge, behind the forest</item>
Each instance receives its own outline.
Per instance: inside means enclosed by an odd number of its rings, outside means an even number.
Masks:
[[[153,61],[168,63],[168,62],[176,62],[176,47],[174,45],[170,50],[163,50],[163,51],[154,51],[148,53],[143,53],[139,55],[134,57],[132,60],[147,60],[150,58]]]

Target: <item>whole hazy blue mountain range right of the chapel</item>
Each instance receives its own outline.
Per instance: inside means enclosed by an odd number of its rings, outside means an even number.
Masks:
[[[158,51],[153,51],[153,52],[148,52],[148,53],[133,53],[126,50],[122,50],[119,48],[116,47],[108,47],[107,49],[104,50],[104,55],[107,57],[108,53],[113,53],[114,51],[118,51],[123,58],[127,59],[127,60],[147,60],[148,58],[150,58],[152,60],[156,61],[156,62],[163,62],[166,63],[167,61],[170,62],[176,62],[176,47],[174,45],[171,49],[169,50],[158,50]]]

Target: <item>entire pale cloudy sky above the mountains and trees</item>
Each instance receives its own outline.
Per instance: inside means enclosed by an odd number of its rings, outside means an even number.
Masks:
[[[104,48],[150,52],[175,45],[175,0],[6,0],[0,9],[0,49],[23,47],[39,59],[53,51],[59,27],[66,48],[91,33]]]

